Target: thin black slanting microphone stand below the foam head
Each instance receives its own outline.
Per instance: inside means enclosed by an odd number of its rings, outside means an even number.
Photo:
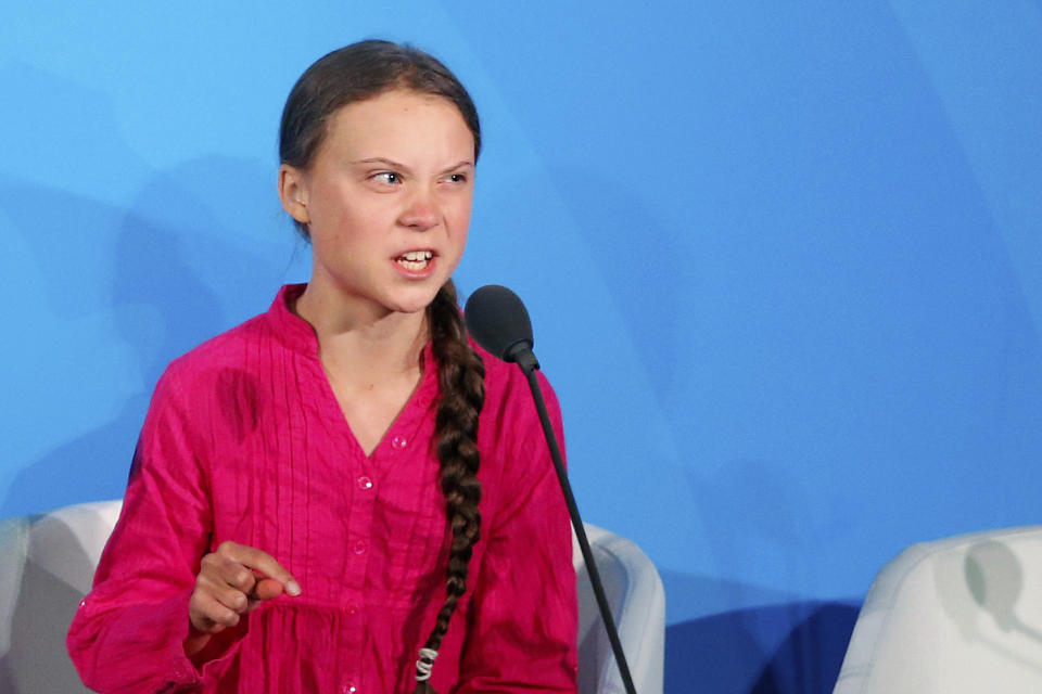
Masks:
[[[600,608],[600,616],[605,621],[605,628],[608,630],[608,640],[611,642],[611,650],[615,654],[615,664],[619,666],[622,683],[626,689],[626,694],[636,694],[633,687],[633,678],[630,676],[630,666],[626,663],[625,654],[622,652],[622,642],[619,640],[619,632],[615,630],[615,620],[611,616],[608,597],[605,595],[605,587],[600,581],[600,574],[597,571],[597,563],[594,561],[594,553],[589,549],[589,540],[586,539],[586,529],[583,527],[583,519],[579,516],[579,506],[575,505],[575,497],[572,494],[572,486],[568,481],[568,473],[564,472],[561,449],[557,445],[557,437],[554,435],[550,416],[546,412],[543,390],[539,388],[539,382],[535,376],[535,371],[539,368],[539,362],[536,360],[535,355],[532,354],[529,345],[524,343],[513,345],[507,354],[506,361],[516,361],[529,380],[529,388],[532,390],[532,398],[535,400],[535,409],[539,413],[539,422],[543,424],[543,434],[546,436],[546,444],[550,447],[550,458],[554,459],[557,478],[561,483],[561,491],[564,492],[568,513],[572,516],[572,527],[575,528],[575,537],[579,539],[579,547],[583,551],[583,561],[586,562],[589,582],[594,587],[597,606]]]

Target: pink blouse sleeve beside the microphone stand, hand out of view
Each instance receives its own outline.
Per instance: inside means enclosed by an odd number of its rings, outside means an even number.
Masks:
[[[563,449],[557,397],[539,374],[547,411]],[[517,393],[512,453],[497,494],[471,600],[460,694],[576,691],[579,608],[572,532],[528,387]]]

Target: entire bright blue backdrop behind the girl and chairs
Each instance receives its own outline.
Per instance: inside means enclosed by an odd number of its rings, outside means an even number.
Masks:
[[[120,496],[166,362],[307,277],[278,116],[376,36],[478,102],[458,284],[525,298],[668,691],[830,691],[890,556],[1038,520],[1040,0],[90,4],[0,22],[0,516]]]

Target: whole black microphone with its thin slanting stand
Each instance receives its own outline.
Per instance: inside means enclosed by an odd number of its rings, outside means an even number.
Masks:
[[[575,504],[575,497],[572,494],[572,486],[568,481],[568,473],[564,472],[561,449],[558,446],[557,437],[554,435],[550,416],[546,412],[543,390],[535,377],[535,370],[539,368],[539,362],[532,352],[535,340],[532,337],[532,321],[529,320],[529,311],[525,310],[524,304],[521,303],[517,294],[505,286],[488,284],[471,294],[470,298],[467,299],[463,320],[467,322],[467,331],[479,345],[504,361],[517,362],[529,380],[529,389],[532,390],[535,409],[539,413],[543,435],[546,437],[546,445],[550,448],[550,458],[554,460],[554,467],[557,468],[557,479],[561,483],[561,491],[564,492],[564,503],[568,505],[569,515],[572,516],[572,527],[575,528],[575,537],[579,539],[583,560],[586,562],[589,582],[594,588],[594,596],[597,599],[597,606],[600,608],[605,629],[608,630],[608,641],[611,642],[611,650],[615,654],[615,664],[619,666],[622,683],[627,694],[635,694],[633,678],[630,676],[630,665],[622,652],[622,642],[619,641],[615,620],[612,619],[611,609],[608,607],[608,597],[605,595],[600,573],[597,570],[594,553],[589,549],[589,540],[586,539],[583,519],[579,516],[579,506]]]

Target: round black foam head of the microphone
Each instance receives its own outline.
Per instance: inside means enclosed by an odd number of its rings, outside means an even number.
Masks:
[[[505,286],[486,284],[471,294],[463,320],[478,344],[504,361],[514,361],[519,348],[531,350],[534,344],[529,311]]]

